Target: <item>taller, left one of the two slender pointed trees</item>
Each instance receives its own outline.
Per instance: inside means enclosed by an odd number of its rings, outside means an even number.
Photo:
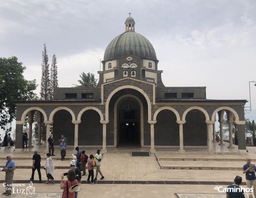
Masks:
[[[51,80],[49,72],[48,55],[46,50],[46,44],[44,43],[44,49],[42,52],[42,78],[41,78],[41,91],[40,96],[43,100],[50,100],[52,96]]]

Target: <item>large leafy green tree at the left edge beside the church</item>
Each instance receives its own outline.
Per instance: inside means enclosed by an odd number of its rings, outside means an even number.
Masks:
[[[35,80],[25,80],[23,72],[26,67],[18,62],[16,57],[0,58],[0,127],[6,132],[12,128],[6,128],[16,117],[16,100],[36,100]]]

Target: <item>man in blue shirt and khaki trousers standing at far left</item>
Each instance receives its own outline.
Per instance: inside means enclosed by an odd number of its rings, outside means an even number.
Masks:
[[[13,183],[13,175],[15,171],[15,162],[12,159],[12,155],[6,156],[5,168],[1,171],[5,172],[5,194],[6,196],[12,194],[12,183]]]

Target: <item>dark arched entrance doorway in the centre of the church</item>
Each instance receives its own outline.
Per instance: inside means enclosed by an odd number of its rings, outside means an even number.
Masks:
[[[136,99],[127,97],[118,103],[117,146],[140,146],[140,107]]]

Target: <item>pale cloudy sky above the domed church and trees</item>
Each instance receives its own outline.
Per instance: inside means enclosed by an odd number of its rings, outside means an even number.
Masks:
[[[254,0],[1,0],[0,57],[16,56],[39,95],[43,44],[56,55],[59,87],[78,85],[82,72],[102,70],[110,41],[135,32],[154,46],[166,87],[206,87],[207,99],[246,99],[256,120]],[[246,103],[247,107],[250,102]],[[249,109],[249,108],[246,108]]]

